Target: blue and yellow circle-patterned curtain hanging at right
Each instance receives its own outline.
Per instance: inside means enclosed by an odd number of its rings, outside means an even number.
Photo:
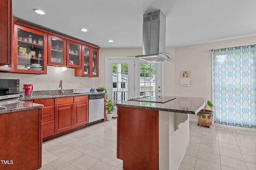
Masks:
[[[213,50],[214,122],[256,128],[256,47]]]

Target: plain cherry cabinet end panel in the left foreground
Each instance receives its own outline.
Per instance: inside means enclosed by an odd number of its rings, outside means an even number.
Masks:
[[[42,167],[42,109],[0,114],[1,170]],[[11,162],[13,162],[11,164]]]

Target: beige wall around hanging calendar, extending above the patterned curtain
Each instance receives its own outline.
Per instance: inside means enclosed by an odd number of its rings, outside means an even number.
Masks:
[[[174,94],[212,100],[211,49],[256,44],[256,36],[175,48]],[[190,87],[179,85],[180,71],[191,71]],[[190,119],[197,119],[191,115]]]

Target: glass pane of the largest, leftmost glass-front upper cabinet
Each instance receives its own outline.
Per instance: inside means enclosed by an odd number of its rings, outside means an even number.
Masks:
[[[18,29],[18,69],[44,70],[44,36]]]

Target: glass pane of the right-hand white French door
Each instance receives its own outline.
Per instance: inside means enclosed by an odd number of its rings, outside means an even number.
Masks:
[[[156,95],[156,64],[140,64],[140,97]]]

